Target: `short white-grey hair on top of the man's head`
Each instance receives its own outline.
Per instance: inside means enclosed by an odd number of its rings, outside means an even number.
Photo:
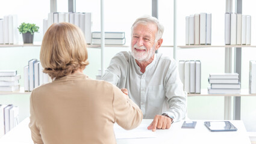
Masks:
[[[147,25],[148,23],[154,23],[157,26],[157,34],[155,34],[155,42],[158,41],[164,32],[164,26],[159,23],[158,19],[152,16],[142,16],[135,20],[133,23],[133,26],[131,26],[131,35],[133,34],[134,26],[136,26],[138,23],[142,25]]]

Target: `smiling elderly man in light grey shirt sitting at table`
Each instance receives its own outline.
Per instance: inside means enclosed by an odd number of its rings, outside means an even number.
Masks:
[[[148,127],[152,131],[170,128],[187,112],[187,93],[176,61],[155,54],[163,43],[163,31],[155,17],[137,19],[131,27],[131,52],[117,53],[102,76],[128,94],[144,118],[154,118]]]

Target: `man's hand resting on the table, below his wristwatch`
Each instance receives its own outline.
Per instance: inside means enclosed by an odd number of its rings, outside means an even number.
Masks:
[[[172,119],[163,115],[156,115],[152,123],[148,126],[148,130],[155,131],[159,129],[169,129],[172,124]]]

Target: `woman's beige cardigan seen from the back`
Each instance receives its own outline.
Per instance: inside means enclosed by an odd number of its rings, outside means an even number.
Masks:
[[[136,128],[142,112],[108,82],[82,73],[61,77],[34,89],[30,97],[34,143],[116,143],[113,124]]]

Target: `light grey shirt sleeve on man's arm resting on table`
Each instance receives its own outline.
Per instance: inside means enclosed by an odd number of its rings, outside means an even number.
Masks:
[[[186,118],[187,92],[183,91],[183,83],[178,73],[176,61],[171,62],[166,76],[166,97],[169,109],[164,112],[173,122]]]

